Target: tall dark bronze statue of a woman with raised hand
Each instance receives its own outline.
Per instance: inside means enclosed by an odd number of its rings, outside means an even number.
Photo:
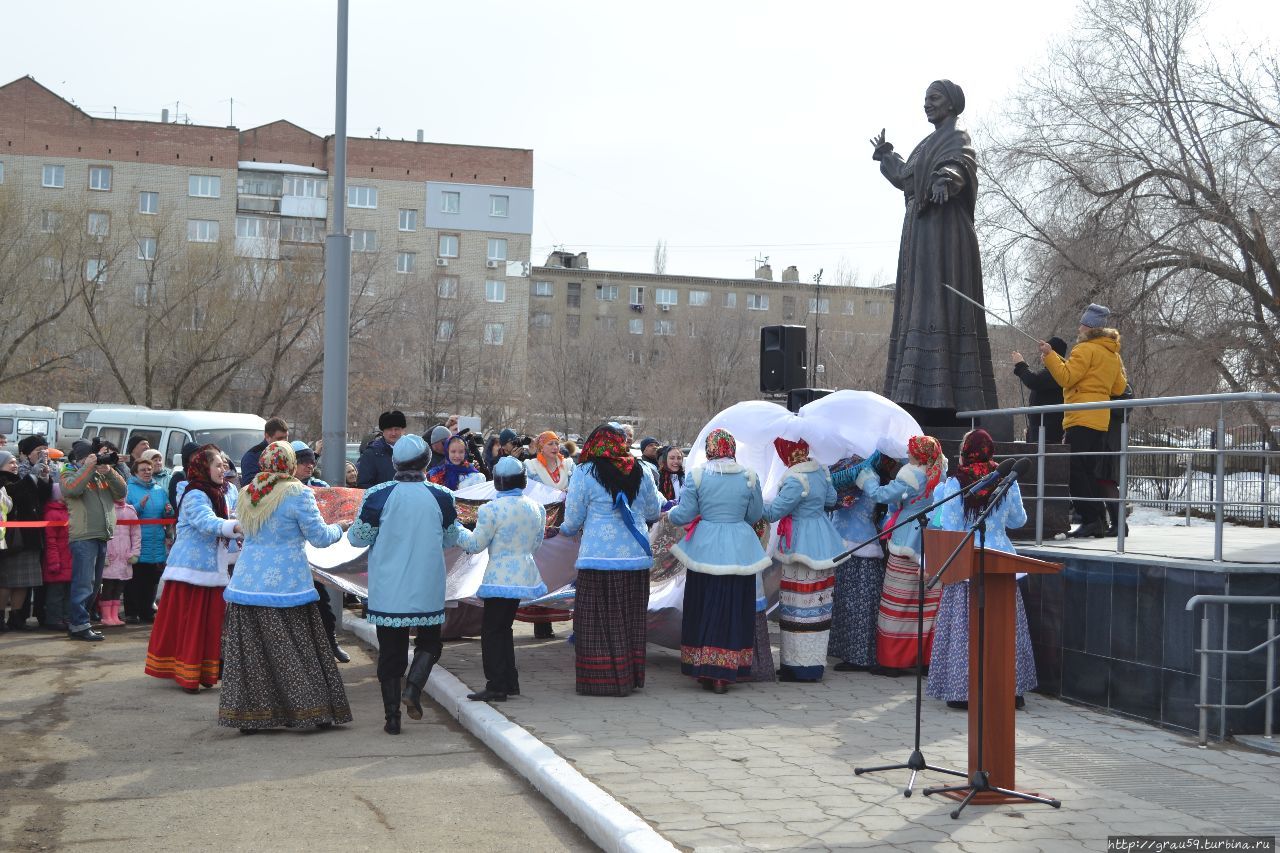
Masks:
[[[952,426],[956,411],[996,407],[996,377],[982,311],[946,289],[982,302],[982,259],[974,232],[978,159],[956,127],[964,91],[948,79],[929,83],[924,117],[933,133],[906,160],[872,138],[881,174],[906,196],[897,257],[893,325],[884,396],[922,426]]]

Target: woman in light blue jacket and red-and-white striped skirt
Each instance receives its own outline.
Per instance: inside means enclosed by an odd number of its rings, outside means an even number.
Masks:
[[[928,507],[933,489],[947,470],[942,446],[932,435],[913,435],[906,443],[908,460],[897,476],[872,489],[869,500],[887,503],[890,515],[884,526]],[[924,660],[916,660],[916,620],[920,603],[919,573],[924,544],[916,523],[906,524],[890,534],[888,565],[881,592],[879,615],[876,620],[876,675],[899,676],[916,665],[928,666],[933,646],[933,617],[938,611],[942,590],[937,587],[924,593]]]

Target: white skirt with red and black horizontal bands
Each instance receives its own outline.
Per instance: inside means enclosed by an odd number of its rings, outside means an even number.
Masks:
[[[836,574],[831,569],[809,569],[796,562],[782,566],[778,624],[782,628],[780,675],[783,679],[822,680],[835,589]]]

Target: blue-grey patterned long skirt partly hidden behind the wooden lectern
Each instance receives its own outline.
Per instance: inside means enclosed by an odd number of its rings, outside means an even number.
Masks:
[[[1015,589],[1014,689],[1018,695],[1036,689],[1036,654],[1027,628],[1023,590]],[[969,581],[947,584],[933,624],[933,662],[925,693],[943,702],[969,701]]]

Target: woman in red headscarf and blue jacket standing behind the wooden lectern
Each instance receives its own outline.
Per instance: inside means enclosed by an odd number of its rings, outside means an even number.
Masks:
[[[995,443],[987,430],[974,429],[965,434],[960,443],[960,469],[955,476],[938,487],[934,498],[946,500],[996,470],[993,453]],[[957,501],[947,501],[933,514],[929,526],[942,530],[968,530],[989,505],[992,491],[989,487],[975,489]],[[1014,543],[1009,540],[1009,530],[1016,530],[1024,524],[1027,524],[1027,508],[1023,506],[1023,493],[1018,488],[1018,482],[1014,480],[1000,503],[987,516],[987,548],[1018,553]],[[1018,697],[1016,707],[1020,708],[1023,694],[1036,689],[1036,657],[1032,653],[1032,635],[1027,628],[1027,608],[1023,607],[1020,588],[1015,588],[1014,601],[1016,605],[1014,692]],[[933,622],[933,662],[929,665],[929,685],[925,692],[934,699],[943,699],[948,708],[969,707],[968,580],[946,584],[942,588],[942,602]]]

